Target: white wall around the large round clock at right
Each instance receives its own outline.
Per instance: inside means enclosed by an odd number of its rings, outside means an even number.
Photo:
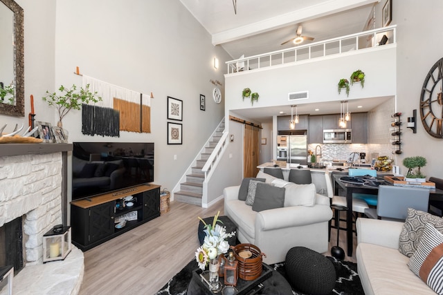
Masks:
[[[417,133],[404,129],[401,164],[405,157],[422,155],[428,164],[422,169],[425,175],[443,178],[441,160],[443,139],[428,135],[419,116],[419,99],[424,78],[433,64],[443,57],[443,38],[440,19],[443,1],[428,0],[419,5],[414,0],[392,1],[392,23],[397,23],[397,111],[406,117],[417,109]]]

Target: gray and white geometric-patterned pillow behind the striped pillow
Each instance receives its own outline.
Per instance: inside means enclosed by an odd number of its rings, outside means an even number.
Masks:
[[[443,233],[443,219],[424,211],[408,208],[408,217],[404,221],[399,240],[399,251],[408,257],[413,256],[417,250],[420,238],[424,231],[424,225],[431,223]]]

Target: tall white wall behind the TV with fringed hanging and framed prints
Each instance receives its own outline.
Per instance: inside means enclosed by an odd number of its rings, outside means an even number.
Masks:
[[[25,96],[34,95],[36,120],[56,124],[55,108],[42,101],[46,90],[81,84],[80,73],[142,93],[154,93],[151,133],[120,132],[120,137],[81,132],[81,111],[63,120],[69,142],[154,142],[155,183],[172,189],[224,116],[212,98],[210,79],[224,84],[230,57],[213,46],[208,32],[179,1],[69,0],[17,1],[24,8]],[[206,95],[206,111],[199,108]],[[167,144],[167,96],[183,100],[183,144]],[[25,113],[30,112],[26,99]],[[0,115],[1,122],[28,122]],[[170,121],[172,122],[172,121]],[[177,121],[176,121],[177,122]],[[177,160],[174,160],[177,155]]]

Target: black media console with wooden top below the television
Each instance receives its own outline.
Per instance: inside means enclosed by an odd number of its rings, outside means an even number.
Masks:
[[[125,202],[124,198],[134,200]],[[123,206],[123,202],[127,205]],[[124,227],[116,227],[116,218],[130,216]],[[71,202],[73,244],[87,251],[134,227],[160,216],[160,186],[143,184]]]

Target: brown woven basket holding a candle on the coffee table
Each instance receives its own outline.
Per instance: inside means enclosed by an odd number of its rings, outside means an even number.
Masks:
[[[262,256],[266,257],[260,249],[252,244],[239,244],[233,247],[235,259],[238,261],[238,277],[242,280],[255,280],[262,275]],[[242,251],[251,251],[250,258],[243,258],[238,254]]]

